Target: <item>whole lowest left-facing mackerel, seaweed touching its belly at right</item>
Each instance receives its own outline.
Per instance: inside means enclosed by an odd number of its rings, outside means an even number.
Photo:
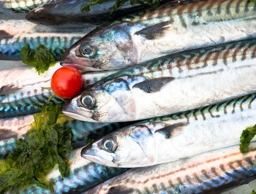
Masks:
[[[81,155],[106,166],[130,168],[168,163],[239,144],[242,131],[255,125],[255,98],[256,94],[250,94],[145,120],[89,144]]]

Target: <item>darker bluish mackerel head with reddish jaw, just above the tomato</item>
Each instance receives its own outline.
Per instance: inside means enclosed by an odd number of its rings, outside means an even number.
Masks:
[[[61,56],[61,65],[76,64],[86,71],[121,69],[136,64],[137,50],[124,27],[99,27],[76,42]]]

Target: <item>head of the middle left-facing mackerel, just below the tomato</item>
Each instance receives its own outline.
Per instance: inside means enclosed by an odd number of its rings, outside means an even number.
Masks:
[[[135,101],[124,82],[110,82],[88,88],[67,101],[64,115],[88,122],[112,122],[135,119]]]

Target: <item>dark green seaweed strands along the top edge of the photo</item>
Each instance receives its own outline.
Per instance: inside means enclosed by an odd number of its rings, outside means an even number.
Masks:
[[[107,0],[91,0],[89,3],[85,4],[81,10],[82,12],[89,12],[90,7],[95,4],[102,4],[104,1]],[[135,4],[145,5],[148,4],[150,6],[156,6],[159,5],[158,0],[116,0],[116,4],[113,5],[113,7],[110,8],[110,14],[112,14],[118,7],[121,7],[122,4],[129,1],[129,3],[134,6]]]

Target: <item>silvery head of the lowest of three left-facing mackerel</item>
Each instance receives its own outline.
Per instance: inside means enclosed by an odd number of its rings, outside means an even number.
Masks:
[[[123,129],[84,147],[81,156],[105,166],[133,168],[152,165],[156,152],[151,146],[154,139],[148,129],[141,125]]]

